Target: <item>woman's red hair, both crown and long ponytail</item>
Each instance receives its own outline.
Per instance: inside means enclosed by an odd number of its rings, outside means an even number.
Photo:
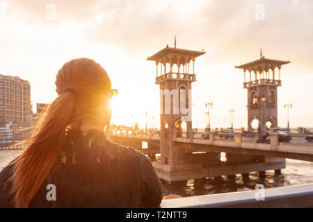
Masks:
[[[93,119],[109,90],[111,80],[94,60],[71,60],[58,71],[58,97],[40,114],[32,137],[18,144],[27,146],[13,162],[10,180],[15,207],[29,206],[63,148],[67,126],[82,119]]]

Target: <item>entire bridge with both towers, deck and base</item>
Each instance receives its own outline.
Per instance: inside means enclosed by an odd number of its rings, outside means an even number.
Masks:
[[[135,135],[132,132],[134,129],[127,128],[125,135],[111,130],[111,139],[149,155],[159,178],[166,181],[225,175],[234,177],[236,173],[242,173],[245,179],[252,171],[264,177],[266,170],[280,173],[280,169],[286,167],[285,158],[313,161],[313,146],[281,144],[278,133],[269,135],[270,144],[258,144],[255,138],[243,137],[241,133],[234,133],[234,139],[218,139],[208,124],[209,138],[197,137],[191,120],[191,85],[197,80],[195,59],[204,54],[204,50],[178,49],[175,41],[174,47],[167,45],[148,56],[147,60],[157,66],[155,83],[160,89],[159,134],[145,132],[145,135]],[[265,58],[261,51],[258,60],[235,66],[243,69],[243,88],[248,90],[248,130],[252,130],[252,122],[257,121],[258,138],[265,135],[268,128],[278,125],[277,95],[278,87],[282,85],[281,67],[289,63],[289,60]],[[207,114],[209,119],[209,109]],[[186,132],[183,132],[182,123],[186,123]],[[128,133],[129,130],[132,134]],[[143,148],[143,142],[147,147]],[[220,160],[222,152],[225,154],[224,161]],[[161,155],[160,160],[156,160],[157,153]]]

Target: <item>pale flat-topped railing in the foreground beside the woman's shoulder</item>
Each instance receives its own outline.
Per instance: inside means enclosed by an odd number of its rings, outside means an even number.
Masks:
[[[313,184],[163,200],[161,207],[313,207]]]

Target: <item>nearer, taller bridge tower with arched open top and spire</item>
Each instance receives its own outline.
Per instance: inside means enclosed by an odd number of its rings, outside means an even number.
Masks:
[[[177,167],[186,169],[186,164],[192,164],[190,154],[184,153],[182,148],[177,148],[173,139],[184,135],[189,139],[193,138],[191,83],[196,81],[195,58],[204,53],[203,50],[178,49],[175,37],[173,48],[167,45],[161,51],[147,58],[156,64],[155,83],[159,85],[160,89],[161,162],[159,164],[154,162],[154,168],[157,172],[159,169],[159,177],[164,180],[172,181],[172,173],[177,171]],[[183,132],[182,124],[186,125],[186,132]],[[182,171],[182,169],[178,170]]]

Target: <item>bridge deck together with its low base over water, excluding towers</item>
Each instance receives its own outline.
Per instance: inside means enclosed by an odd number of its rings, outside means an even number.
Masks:
[[[313,162],[313,144],[279,143],[278,133],[271,133],[270,144],[258,144],[255,138],[243,137],[235,133],[234,139],[218,139],[214,132],[209,133],[209,139],[175,137],[172,142],[176,153],[179,151],[188,155],[190,164],[172,166],[174,172],[166,173],[160,169],[165,164],[153,162],[154,167],[163,180],[187,180],[190,178],[206,178],[218,176],[233,176],[236,173],[274,169],[278,173],[285,167],[284,158]],[[155,154],[160,153],[159,135],[111,135],[114,142],[125,146],[133,146],[155,160]],[[143,146],[143,143],[146,143]],[[220,153],[226,153],[227,161],[220,162]],[[188,173],[187,173],[188,172]]]

